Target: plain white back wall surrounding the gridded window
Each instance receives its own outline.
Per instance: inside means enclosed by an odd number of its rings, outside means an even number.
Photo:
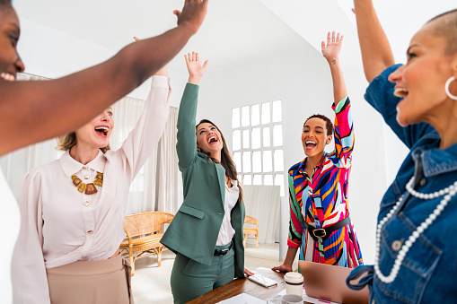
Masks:
[[[211,59],[211,58],[204,58]],[[343,69],[352,100],[356,148],[349,188],[349,208],[365,261],[373,262],[375,218],[385,183],[385,161],[380,117],[363,99],[366,83],[352,80],[350,68]],[[232,146],[231,110],[268,100],[283,101],[285,167],[303,160],[303,122],[314,113],[334,117],[330,106],[333,92],[327,62],[315,48],[303,41],[275,56],[252,58],[224,70],[208,72],[200,82],[198,120],[208,118],[224,132]],[[285,172],[286,173],[286,172]],[[286,185],[286,180],[285,180]],[[246,202],[249,204],[249,202]],[[285,254],[288,201],[282,203],[282,257]]]

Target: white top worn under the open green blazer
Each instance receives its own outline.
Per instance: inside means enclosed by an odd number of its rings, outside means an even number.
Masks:
[[[219,235],[217,236],[217,241],[215,242],[216,246],[227,245],[235,235],[235,230],[230,222],[230,214],[232,213],[232,209],[236,202],[238,202],[240,189],[238,189],[238,183],[236,180],[230,179],[230,182],[232,183],[232,187],[230,188],[225,183],[224,219],[222,220],[221,230],[219,230]]]

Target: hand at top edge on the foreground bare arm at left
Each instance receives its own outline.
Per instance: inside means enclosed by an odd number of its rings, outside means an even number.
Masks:
[[[178,26],[188,23],[195,34],[205,20],[209,0],[185,0],[182,11],[174,10],[178,17]]]

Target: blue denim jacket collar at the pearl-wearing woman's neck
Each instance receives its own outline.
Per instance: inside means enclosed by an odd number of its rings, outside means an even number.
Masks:
[[[414,149],[411,156],[414,161],[422,163],[427,178],[457,169],[457,143],[441,150],[441,139],[436,131],[424,136],[424,139],[425,143]]]

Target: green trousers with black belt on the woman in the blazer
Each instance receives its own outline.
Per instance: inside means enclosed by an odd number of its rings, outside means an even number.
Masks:
[[[215,248],[222,250],[229,246],[230,243]],[[209,266],[178,253],[171,270],[171,292],[174,304],[194,300],[227,282],[232,282],[234,276],[233,248],[225,256],[214,256],[213,262]]]

